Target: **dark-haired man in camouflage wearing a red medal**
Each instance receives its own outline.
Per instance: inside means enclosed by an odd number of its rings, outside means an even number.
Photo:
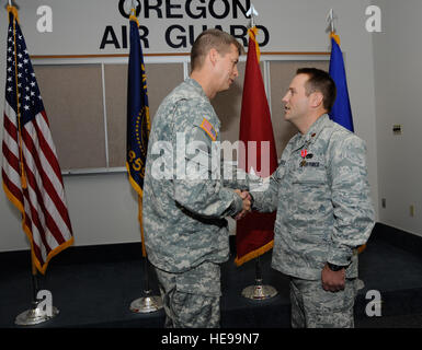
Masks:
[[[272,267],[290,277],[293,327],[353,327],[356,248],[374,226],[362,139],[329,119],[335,85],[299,69],[283,98],[299,132],[252,209],[277,210]]]

